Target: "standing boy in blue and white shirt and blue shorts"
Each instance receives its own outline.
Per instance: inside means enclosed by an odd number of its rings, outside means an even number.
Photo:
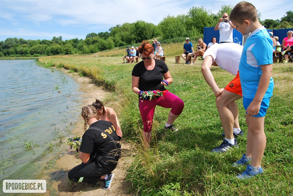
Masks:
[[[263,25],[258,21],[256,8],[239,2],[230,13],[230,21],[242,35],[251,33],[244,46],[239,63],[239,76],[246,110],[246,154],[233,166],[246,165],[246,170],[237,175],[240,179],[263,173],[261,160],[266,146],[264,121],[274,88],[272,75],[273,42]],[[251,164],[248,162],[251,161]]]

